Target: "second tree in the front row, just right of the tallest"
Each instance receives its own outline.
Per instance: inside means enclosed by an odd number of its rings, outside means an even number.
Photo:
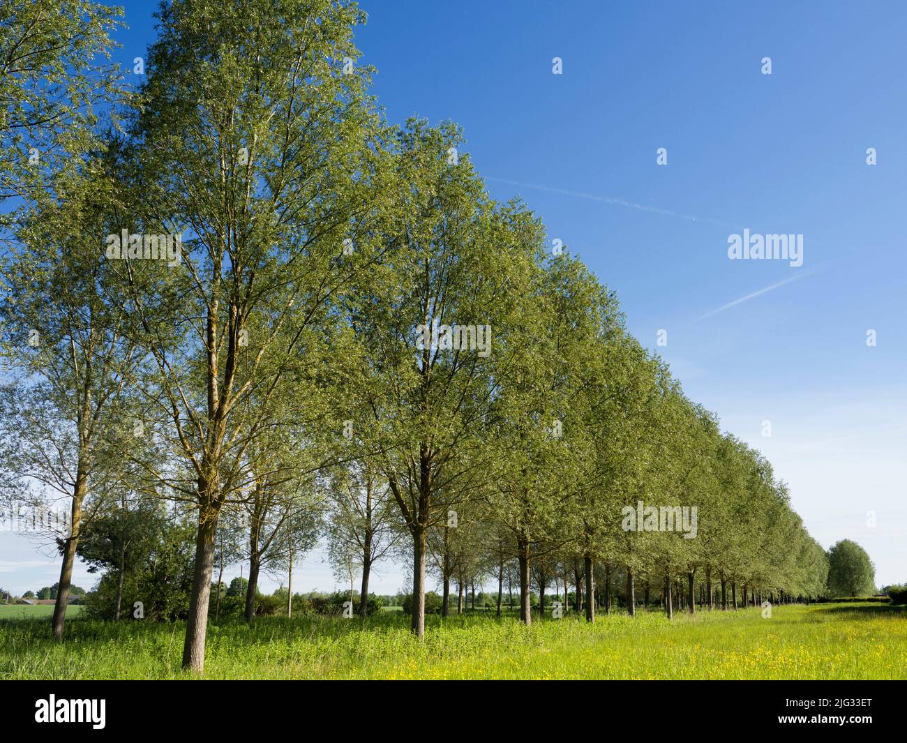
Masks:
[[[354,409],[370,413],[358,431],[380,453],[413,541],[417,636],[428,533],[488,482],[489,412],[532,270],[531,220],[487,200],[462,147],[453,125],[413,121],[399,133],[395,206],[374,236],[393,250],[347,307],[366,373]]]

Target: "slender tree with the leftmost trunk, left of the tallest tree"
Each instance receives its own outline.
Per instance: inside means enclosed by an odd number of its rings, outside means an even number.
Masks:
[[[58,200],[20,215],[17,248],[0,262],[13,372],[0,396],[3,465],[24,491],[39,487],[70,506],[59,539],[57,639],[82,527],[121,483],[122,451],[141,434],[131,402],[141,348],[126,333],[122,286],[102,247],[121,218],[114,162],[108,150],[61,178]]]

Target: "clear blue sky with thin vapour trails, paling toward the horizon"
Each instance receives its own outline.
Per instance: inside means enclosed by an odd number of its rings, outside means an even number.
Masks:
[[[152,8],[125,6],[118,59],[132,67]],[[357,40],[387,118],[462,124],[493,197],[522,196],[618,292],[688,396],[790,484],[810,533],[825,547],[856,540],[879,584],[903,582],[907,5],[362,6]],[[728,236],[745,229],[802,234],[803,265],[728,259]],[[0,534],[0,584],[54,582],[58,563],[21,563],[41,559]],[[320,559],[294,584],[332,588]],[[375,591],[404,584],[379,573]]]

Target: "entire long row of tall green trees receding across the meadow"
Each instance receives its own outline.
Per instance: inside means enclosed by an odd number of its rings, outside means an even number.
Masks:
[[[227,523],[249,601],[326,511],[363,597],[406,549],[420,636],[430,572],[446,612],[452,583],[491,570],[500,595],[515,564],[526,623],[533,572],[584,592],[589,621],[597,575],[630,611],[638,585],[668,613],[697,586],[824,591],[785,484],[614,293],[488,196],[458,127],[382,119],[356,5],[173,0],[138,88],[97,62],[109,9],[5,7],[2,454],[9,497],[71,504],[57,637],[83,533],[104,517],[122,580],[148,508],[193,514],[192,670]]]

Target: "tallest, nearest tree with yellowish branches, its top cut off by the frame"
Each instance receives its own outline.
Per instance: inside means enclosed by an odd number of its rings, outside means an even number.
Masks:
[[[176,0],[159,18],[135,125],[141,219],[189,233],[176,301],[136,292],[131,307],[159,370],[153,395],[193,473],[173,485],[198,513],[183,666],[201,671],[219,511],[268,400],[367,263],[342,258],[375,208],[376,119],[355,64],[365,18],[355,5]],[[182,331],[175,344],[161,337],[164,318]]]

